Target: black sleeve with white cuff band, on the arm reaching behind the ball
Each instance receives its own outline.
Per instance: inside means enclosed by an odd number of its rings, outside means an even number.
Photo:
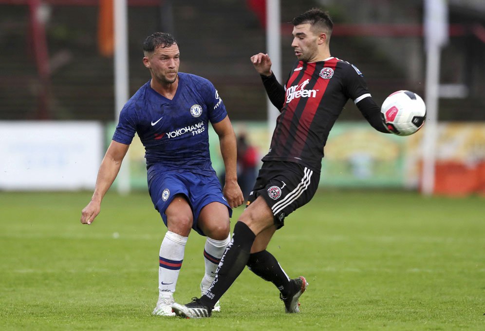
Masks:
[[[369,124],[379,132],[389,133],[382,121],[380,108],[367,89],[364,75],[353,64],[349,65],[345,88],[347,96],[354,100],[355,105]]]

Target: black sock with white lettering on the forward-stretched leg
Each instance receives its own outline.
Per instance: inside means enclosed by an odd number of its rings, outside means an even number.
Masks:
[[[212,284],[201,297],[201,302],[205,306],[214,307],[217,300],[234,283],[244,267],[251,253],[256,235],[242,222],[237,222],[234,226],[232,240],[227,245],[221,262],[216,270],[216,276]]]

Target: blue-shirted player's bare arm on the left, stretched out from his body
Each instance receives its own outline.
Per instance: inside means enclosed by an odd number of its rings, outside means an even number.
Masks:
[[[111,141],[110,147],[99,167],[98,176],[96,178],[96,185],[94,187],[93,197],[86,207],[81,212],[81,223],[91,224],[94,218],[101,210],[101,200],[111,187],[114,179],[118,175],[121,167],[121,161],[128,152],[128,147],[114,140]]]

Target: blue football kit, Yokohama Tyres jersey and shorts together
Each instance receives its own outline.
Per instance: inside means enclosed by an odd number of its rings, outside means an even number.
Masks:
[[[209,155],[208,123],[222,121],[227,112],[212,83],[202,77],[179,73],[173,99],[143,85],[123,107],[113,140],[131,144],[135,133],[145,146],[149,193],[165,225],[165,210],[177,194],[192,208],[192,228],[202,208],[211,202],[232,210],[221,190]]]

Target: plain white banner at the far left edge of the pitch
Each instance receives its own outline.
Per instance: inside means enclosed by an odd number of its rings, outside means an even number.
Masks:
[[[0,190],[91,190],[103,147],[98,122],[0,121]]]

